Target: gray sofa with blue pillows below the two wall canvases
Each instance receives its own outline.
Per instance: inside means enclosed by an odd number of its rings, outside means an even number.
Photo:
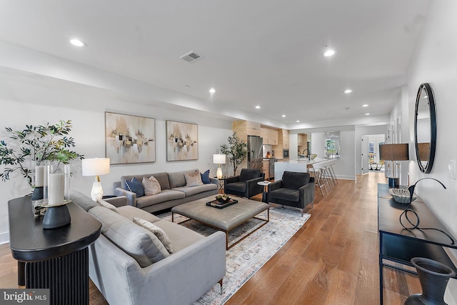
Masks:
[[[161,172],[155,174],[121,176],[121,181],[114,182],[114,195],[126,196],[130,206],[136,206],[137,208],[152,213],[218,194],[219,181],[214,178],[209,179],[211,181],[209,184],[186,186],[184,173],[194,171],[196,171],[196,169],[171,173]],[[138,181],[142,181],[144,177],[149,179],[150,176],[154,176],[154,178],[159,181],[161,186],[161,192],[159,194],[137,198],[136,193],[126,190],[126,180],[131,181],[131,179],[135,177]]]

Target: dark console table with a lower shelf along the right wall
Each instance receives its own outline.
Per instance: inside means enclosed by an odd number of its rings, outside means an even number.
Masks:
[[[411,259],[413,257],[425,257],[446,264],[457,273],[456,266],[453,265],[443,249],[443,247],[457,249],[457,244],[452,244],[448,236],[436,230],[404,229],[398,219],[406,206],[406,204],[398,204],[392,199],[391,195],[388,194],[387,184],[378,184],[379,294],[381,305],[383,304],[383,266],[416,274],[413,268],[407,269],[392,263],[412,267]],[[440,229],[452,236],[426,204],[421,201],[413,201],[410,208],[416,211],[421,218],[421,227]]]

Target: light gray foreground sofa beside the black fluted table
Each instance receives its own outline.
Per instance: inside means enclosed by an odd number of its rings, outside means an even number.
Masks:
[[[222,285],[226,273],[224,232],[204,237],[126,206],[125,196],[106,199],[118,206],[119,214],[77,191],[71,192],[71,200],[102,224],[99,239],[89,247],[89,276],[109,304],[191,304],[218,282]],[[160,249],[161,241],[134,224],[134,217],[162,229],[174,253]],[[144,254],[151,248],[154,254]]]

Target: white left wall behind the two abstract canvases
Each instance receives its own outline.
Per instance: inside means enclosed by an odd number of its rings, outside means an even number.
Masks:
[[[89,90],[90,91],[90,90]],[[173,111],[159,109],[144,104],[131,104],[128,101],[101,97],[87,91],[47,88],[26,82],[3,83],[0,85],[0,139],[6,139],[5,127],[22,130],[26,124],[51,124],[59,119],[71,119],[71,136],[76,142],[76,150],[86,158],[105,155],[104,111],[122,114],[149,116],[156,119],[156,162],[146,164],[118,164],[111,166],[111,173],[101,176],[104,194],[113,194],[113,182],[123,174],[143,174],[159,171],[180,171],[184,169],[211,169],[216,176],[216,164],[212,164],[212,154],[231,135],[231,121],[201,114],[196,111]],[[166,161],[165,121],[193,122],[199,125],[199,159],[196,161]],[[72,168],[71,189],[90,195],[93,177],[81,176],[81,161]],[[3,167],[0,167],[2,170]],[[226,169],[224,169],[226,170]],[[0,243],[9,240],[7,202],[18,196],[29,194],[31,189],[21,176],[14,174],[6,182],[0,181]]]

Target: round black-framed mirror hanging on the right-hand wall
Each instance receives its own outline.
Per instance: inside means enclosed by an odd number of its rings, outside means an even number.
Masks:
[[[421,84],[414,111],[414,144],[419,169],[430,173],[435,159],[436,111],[433,91],[428,83]]]

